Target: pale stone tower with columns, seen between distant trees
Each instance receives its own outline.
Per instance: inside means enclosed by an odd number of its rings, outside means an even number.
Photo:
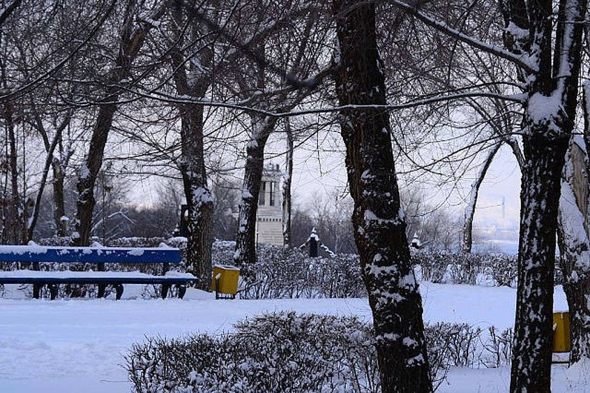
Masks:
[[[283,178],[278,165],[264,167],[258,211],[256,213],[256,243],[283,245],[283,203],[280,184]]]

